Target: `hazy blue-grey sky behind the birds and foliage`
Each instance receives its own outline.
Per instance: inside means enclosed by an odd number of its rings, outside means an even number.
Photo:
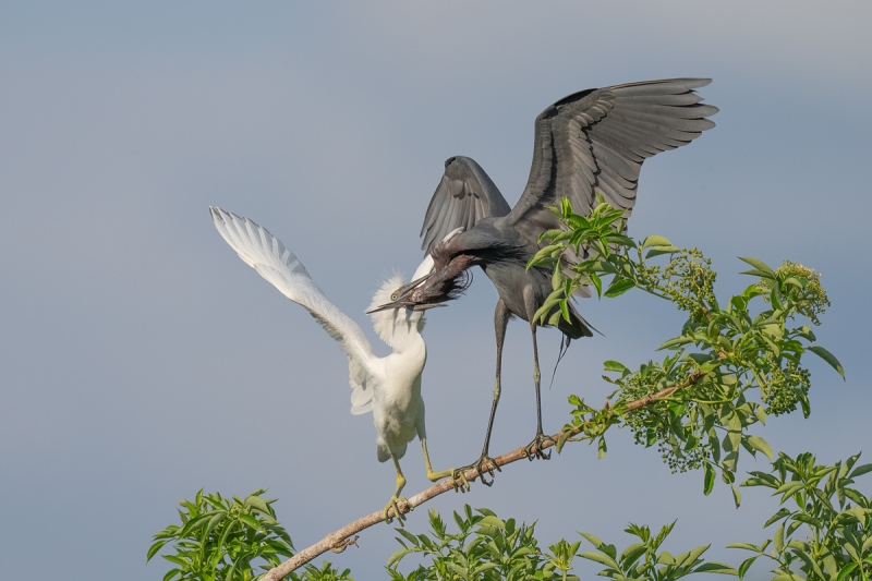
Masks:
[[[0,570],[162,577],[145,565],[150,535],[201,487],[269,488],[298,548],[382,507],[392,470],[375,460],[371,416],[348,414],[344,356],[237,258],[207,206],[270,229],[377,341],[363,311],[387,274],[420,262],[447,157],[475,158],[513,204],[538,112],[647,78],[711,76],[701,93],[720,112],[645,164],[631,233],[703,250],[722,293],[748,282],[736,256],[823,273],[833,307],[819,339],[848,380],[812,361],[811,417],[756,433],[825,461],[869,448],[869,22],[868,2],[3,3]],[[495,301],[479,274],[429,316],[437,469],[479,453]],[[582,311],[605,337],[560,364],[546,429],[569,394],[605,397],[602,361],[645,361],[681,323],[643,296]],[[540,338],[550,375],[559,334]],[[533,434],[531,372],[529,332],[512,323],[494,452]],[[402,462],[410,495],[427,484],[417,450]],[[678,518],[676,549],[711,542],[737,562],[719,547],[764,538],[775,503],[752,489],[736,510],[728,488],[703,497],[701,481],[617,433],[602,461],[579,447],[513,464],[493,488],[427,508],[538,519],[546,543],[582,530],[625,544],[630,520]],[[425,522],[422,507],[408,526]],[[378,578],[393,535],[376,526],[330,557]]]

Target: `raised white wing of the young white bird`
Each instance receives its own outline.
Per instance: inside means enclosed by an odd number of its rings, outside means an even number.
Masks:
[[[367,368],[373,349],[363,331],[327,300],[300,259],[266,228],[221,208],[209,207],[215,228],[239,257],[276,287],[284,296],[304,306],[325,330],[340,342],[348,355],[351,413],[372,409],[373,387]]]

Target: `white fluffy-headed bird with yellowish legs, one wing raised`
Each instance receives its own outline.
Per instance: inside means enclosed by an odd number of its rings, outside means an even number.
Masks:
[[[424,400],[421,398],[421,374],[427,359],[427,349],[421,336],[425,324],[424,311],[438,305],[400,306],[372,314],[376,332],[393,350],[385,358],[376,356],[361,328],[327,300],[300,259],[280,240],[252,220],[220,208],[209,207],[209,211],[218,232],[240,258],[288,299],[305,307],[330,337],[339,341],[348,355],[351,413],[373,412],[378,461],[392,460],[397,470],[397,486],[385,506],[385,520],[392,520],[388,517],[392,507],[402,523],[404,517],[397,503],[404,500],[400,498],[400,493],[405,485],[405,477],[399,460],[415,435],[424,451],[427,479],[435,482],[453,472],[434,472],[431,467],[424,426]],[[414,279],[432,268],[433,259],[427,256],[419,266]],[[373,306],[397,299],[396,291],[402,286],[400,275],[391,276],[375,293]]]

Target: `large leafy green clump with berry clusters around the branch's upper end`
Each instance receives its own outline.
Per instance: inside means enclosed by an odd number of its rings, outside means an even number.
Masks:
[[[820,275],[789,261],[773,270],[755,258],[741,258],[752,267],[743,274],[756,280],[718,301],[716,273],[700,251],[678,249],[657,235],[633,241],[621,233],[622,213],[602,199],[589,216],[572,214],[567,201],[554,211],[567,229],[544,232],[540,242],[547,245],[528,265],[554,267],[554,292],[537,320],[556,324],[583,287],[607,298],[638,288],[687,313],[679,335],[659,347],[668,352],[663,361],[634,371],[606,362],[605,371],[617,374],[604,376],[616,386],[606,408],[596,410],[570,397],[572,420],[558,451],[569,439],[586,439],[597,443],[603,457],[605,432],[626,425],[638,444],[656,446],[673,471],[703,469],[705,494],[719,471],[738,506],[741,495],[734,483],[741,450],[772,459],[770,445],[749,427],[798,408],[806,416],[811,413],[802,355],[821,356],[844,377],[838,360],[814,344],[811,327],[794,324],[797,316],[820,324],[818,316],[829,305]],[[651,262],[664,257],[665,265]],[[645,398],[644,406],[631,406]]]

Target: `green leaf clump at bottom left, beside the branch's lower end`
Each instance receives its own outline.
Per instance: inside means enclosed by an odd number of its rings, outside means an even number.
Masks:
[[[194,501],[179,505],[181,524],[170,524],[154,536],[147,560],[167,544],[174,554],[160,555],[173,564],[164,581],[250,581],[259,568],[269,570],[281,558],[293,555],[291,537],[276,520],[275,499],[262,498],[266,491],[258,489],[245,499],[237,496],[223,498],[220,494],[198,491]],[[306,567],[302,577],[291,574],[286,579],[305,581],[350,580],[349,571],[338,573],[325,561],[322,569]]]

